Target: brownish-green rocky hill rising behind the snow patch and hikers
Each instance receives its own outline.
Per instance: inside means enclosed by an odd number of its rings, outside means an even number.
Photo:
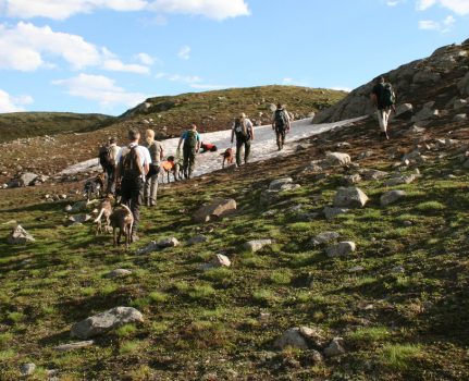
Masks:
[[[41,139],[32,139],[27,145],[0,145],[0,171],[8,173],[4,177],[0,175],[0,183],[8,181],[17,165],[24,170],[53,174],[67,165],[90,159],[110,136],[116,136],[120,143],[126,142],[129,127],[141,132],[153,128],[158,137],[163,139],[180,136],[190,122],[197,123],[202,133],[231,128],[233,119],[240,112],[245,112],[255,122],[270,123],[272,113],[268,109],[279,101],[287,105],[288,111],[297,118],[306,118],[310,112],[331,106],[345,95],[344,91],[326,89],[263,86],[151,98],[149,112],[131,110],[110,126],[57,136],[54,142],[48,144],[53,149],[53,155],[44,149]]]

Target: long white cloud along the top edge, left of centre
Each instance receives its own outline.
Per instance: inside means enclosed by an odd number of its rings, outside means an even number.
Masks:
[[[99,9],[113,11],[153,10],[158,13],[202,15],[225,20],[249,15],[245,0],[0,0],[9,16],[65,20],[74,14]]]

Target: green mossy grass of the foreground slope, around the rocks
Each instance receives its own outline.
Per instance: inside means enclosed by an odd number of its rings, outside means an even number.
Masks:
[[[362,180],[367,206],[331,221],[320,212],[345,175],[415,172],[394,165],[415,148],[409,125],[395,122],[393,140],[379,142],[368,120],[323,134],[299,153],[164,186],[158,209],[143,209],[143,239],[128,251],[113,248],[109,235],[94,236],[90,225],[65,228],[70,200],[39,201],[46,193],[73,197],[82,184],[2,192],[0,236],[14,219],[37,241],[15,247],[0,241],[0,374],[17,379],[20,366],[33,361],[38,380],[51,369],[63,380],[469,379],[469,174],[459,160],[469,128],[448,120],[419,136],[429,144],[421,148],[427,161],[418,167],[421,177],[395,187],[406,190],[403,200],[381,207],[390,188]],[[459,143],[439,148],[435,138],[448,136]],[[359,167],[304,171],[342,142]],[[301,187],[261,206],[262,190],[284,175]],[[192,212],[215,197],[235,198],[237,212],[194,223]],[[319,214],[306,220],[304,212]],[[356,253],[329,258],[324,246],[311,245],[326,231],[354,241]],[[208,243],[187,246],[197,234]],[[170,236],[183,244],[135,255]],[[242,245],[252,238],[274,244],[248,253]],[[219,253],[232,267],[203,271]],[[106,278],[118,268],[133,273]],[[72,341],[74,322],[116,306],[137,308],[145,322],[98,336],[85,349],[54,349]],[[328,341],[344,337],[345,354],[320,361],[312,348],[274,348],[285,330],[300,325],[322,330]]]

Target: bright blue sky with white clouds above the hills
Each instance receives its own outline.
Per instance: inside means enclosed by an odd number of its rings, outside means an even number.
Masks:
[[[0,112],[158,95],[353,89],[469,38],[469,0],[0,0]]]

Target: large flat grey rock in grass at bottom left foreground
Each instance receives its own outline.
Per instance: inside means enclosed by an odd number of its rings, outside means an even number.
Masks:
[[[137,309],[132,307],[115,307],[73,324],[71,335],[72,337],[86,340],[123,324],[143,321],[144,316]]]

